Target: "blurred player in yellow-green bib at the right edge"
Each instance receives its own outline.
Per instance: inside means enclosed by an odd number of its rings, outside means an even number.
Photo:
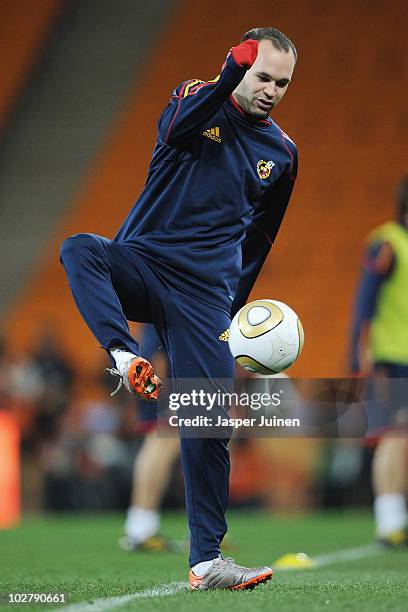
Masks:
[[[373,230],[368,239],[351,355],[352,370],[374,377],[383,391],[389,379],[387,405],[379,398],[370,404],[371,410],[380,404],[383,415],[387,409],[394,412],[393,427],[383,431],[374,454],[374,515],[380,542],[407,546],[408,176],[399,187],[397,219]]]

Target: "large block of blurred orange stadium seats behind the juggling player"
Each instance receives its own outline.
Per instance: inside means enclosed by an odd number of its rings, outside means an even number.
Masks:
[[[179,3],[35,276],[9,312],[7,333],[15,347],[28,347],[50,320],[76,363],[95,367],[101,351],[69,294],[58,263],[61,241],[78,231],[114,235],[143,186],[156,121],[172,88],[187,78],[213,78],[241,33],[273,24],[299,52],[293,84],[274,118],[298,145],[300,171],[252,297],[286,301],[302,318],[305,348],[290,374],[345,375],[363,241],[392,216],[394,185],[406,171],[405,7],[402,0],[392,11],[382,0],[277,0],[260,16],[246,0]]]

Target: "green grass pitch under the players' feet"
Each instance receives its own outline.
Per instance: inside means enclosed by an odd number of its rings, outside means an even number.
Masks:
[[[241,512],[231,513],[229,523],[239,547],[232,556],[242,565],[270,565],[288,552],[313,557],[354,548],[369,544],[373,531],[368,512],[291,518]],[[119,550],[122,524],[119,515],[71,515],[26,519],[18,529],[0,532],[0,609],[57,607],[9,604],[8,593],[64,592],[72,605],[187,581],[187,555]],[[183,538],[184,516],[166,514],[163,531]],[[271,582],[253,591],[185,591],[135,599],[115,609],[402,612],[408,610],[407,576],[408,549],[387,551],[314,570],[276,571]]]

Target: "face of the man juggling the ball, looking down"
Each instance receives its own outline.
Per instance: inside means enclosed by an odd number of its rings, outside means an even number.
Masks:
[[[266,118],[285,95],[294,67],[292,50],[278,51],[270,40],[259,41],[255,63],[234,91],[236,101],[252,117]]]

